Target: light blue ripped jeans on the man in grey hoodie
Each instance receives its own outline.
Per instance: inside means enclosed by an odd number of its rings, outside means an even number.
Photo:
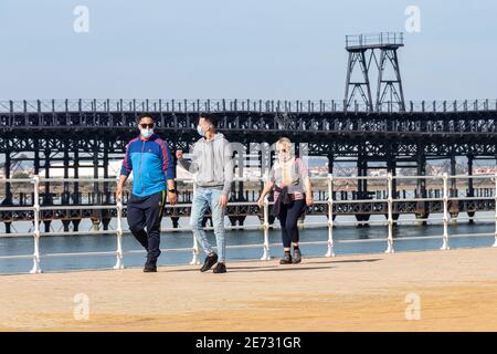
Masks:
[[[214,249],[209,243],[205,231],[202,228],[203,215],[208,207],[211,208],[215,243],[218,244],[218,261],[224,262],[226,244],[224,241],[224,208],[219,206],[221,195],[221,189],[201,187],[195,189],[191,206],[190,227],[205,254],[213,252]]]

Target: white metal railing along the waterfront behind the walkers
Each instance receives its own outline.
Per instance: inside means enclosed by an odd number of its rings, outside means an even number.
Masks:
[[[490,179],[494,180],[495,191],[497,191],[497,173],[495,175],[456,175],[456,176],[448,176],[447,174],[438,175],[438,176],[392,176],[391,174],[388,174],[387,176],[374,176],[374,177],[367,177],[367,176],[355,176],[355,177],[342,177],[342,176],[332,176],[328,175],[327,177],[311,177],[313,180],[326,180],[327,181],[327,192],[328,197],[327,200],[319,200],[315,204],[322,204],[328,206],[328,212],[327,218],[328,220],[326,222],[305,222],[304,227],[327,227],[328,233],[327,239],[322,241],[308,241],[308,242],[299,242],[300,244],[327,244],[327,252],[325,253],[325,257],[335,257],[335,243],[352,243],[352,242],[377,242],[377,241],[385,241],[387,242],[387,249],[385,253],[393,253],[394,252],[394,238],[393,238],[393,225],[394,223],[404,223],[404,222],[419,222],[419,221],[443,221],[443,235],[442,236],[426,236],[426,237],[416,237],[416,238],[395,238],[395,240],[419,240],[419,239],[438,239],[442,238],[442,247],[441,250],[448,250],[450,249],[450,233],[448,233],[448,222],[451,221],[450,210],[448,210],[448,201],[456,201],[456,200],[494,200],[495,206],[497,206],[497,192],[494,192],[494,197],[451,197],[448,191],[448,181],[451,179]],[[338,180],[383,180],[387,181],[387,189],[388,189],[388,198],[387,199],[352,199],[352,200],[335,200],[334,199],[334,186],[336,181]],[[440,198],[393,198],[393,180],[394,179],[432,179],[432,180],[442,180],[443,186],[443,194]],[[177,179],[186,183],[193,183],[193,179]],[[261,181],[261,180],[267,180],[267,176],[265,176],[263,179],[260,178],[235,178],[235,181]],[[121,200],[117,200],[116,205],[109,205],[109,206],[64,206],[64,205],[57,205],[57,206],[40,206],[39,199],[39,187],[41,183],[68,183],[68,181],[85,181],[85,183],[117,183],[117,179],[114,178],[43,178],[40,176],[33,176],[32,178],[10,178],[10,179],[0,179],[0,183],[31,183],[34,188],[34,201],[33,206],[29,207],[20,207],[20,206],[1,206],[0,212],[9,212],[9,211],[27,211],[32,210],[34,214],[34,228],[32,232],[23,232],[23,233],[0,233],[0,238],[14,238],[14,237],[27,237],[31,236],[33,237],[34,242],[34,251],[32,254],[19,254],[19,256],[2,256],[0,257],[1,260],[17,260],[17,259],[32,259],[33,267],[30,271],[30,273],[40,273],[42,271],[41,269],[41,259],[42,258],[55,258],[55,257],[96,257],[96,256],[115,256],[116,257],[116,264],[114,266],[114,269],[124,269],[124,256],[126,253],[133,254],[133,253],[141,253],[145,252],[144,250],[130,250],[130,251],[124,251],[123,250],[123,235],[125,232],[123,230],[123,209],[126,208],[125,205],[123,205]],[[194,183],[193,183],[193,190],[194,190]],[[443,202],[443,217],[442,218],[416,218],[413,220],[393,220],[393,204],[400,202],[400,201],[434,201],[438,200]],[[336,222],[334,221],[334,205],[339,204],[370,204],[370,202],[387,202],[388,205],[388,219],[387,221],[374,221],[374,220],[361,220],[361,221],[341,221]],[[255,202],[230,202],[230,206],[253,206]],[[225,227],[228,230],[235,230],[235,229],[256,229],[263,231],[263,242],[261,243],[254,243],[254,244],[234,244],[226,247],[228,249],[241,249],[241,248],[260,248],[262,247],[263,256],[261,257],[261,260],[271,260],[271,247],[276,246],[269,243],[269,205],[271,202],[267,199],[267,196],[264,199],[263,205],[263,220],[261,225],[255,226],[228,226]],[[176,206],[167,205],[166,207],[170,208],[182,208],[182,207],[191,207],[191,204],[177,204]],[[41,218],[41,211],[44,210],[71,210],[71,209],[82,209],[82,208],[89,208],[89,209],[116,209],[117,211],[117,227],[115,230],[103,230],[103,231],[65,231],[65,232],[42,232],[40,230],[40,221],[42,221]],[[488,220],[494,219],[495,220],[495,232],[494,233],[467,233],[467,235],[454,235],[453,237],[483,237],[483,236],[494,236],[495,237],[495,243],[493,247],[497,247],[497,208],[495,208],[495,216],[491,218],[475,218],[475,217],[467,217],[467,220]],[[0,222],[3,221],[0,219]],[[387,231],[387,238],[376,238],[376,239],[360,239],[360,240],[335,240],[334,239],[334,228],[336,226],[345,226],[345,225],[387,225],[388,231]],[[205,230],[212,230],[212,227],[205,227]],[[180,231],[180,230],[190,230],[190,228],[163,228],[162,231]],[[115,251],[104,251],[104,252],[73,252],[73,253],[46,253],[41,254],[40,253],[40,239],[43,236],[54,236],[54,235],[116,235],[116,250]],[[190,264],[199,264],[199,244],[197,242],[197,239],[193,237],[193,244],[191,248],[177,248],[177,249],[161,249],[162,252],[192,252],[192,260]]]

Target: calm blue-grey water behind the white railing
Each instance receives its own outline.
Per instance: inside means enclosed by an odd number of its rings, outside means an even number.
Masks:
[[[466,215],[462,214],[462,217]],[[477,217],[493,217],[494,214],[479,214]],[[433,217],[440,218],[440,215]],[[412,219],[412,218],[409,218]],[[338,217],[335,221],[350,221],[355,220],[352,217]],[[376,217],[372,220],[384,221],[382,217]],[[246,225],[257,223],[257,219],[248,218]],[[322,222],[326,221],[324,217],[308,217],[306,221],[309,222]],[[181,219],[180,226],[187,226],[188,220]],[[226,220],[228,222],[228,220]],[[15,223],[17,232],[30,231],[31,225]],[[115,228],[115,225],[110,225]],[[125,229],[127,228],[125,223]],[[167,219],[162,221],[162,227],[171,227]],[[53,231],[59,231],[60,225],[53,223]],[[91,225],[81,223],[81,231],[91,230]],[[476,248],[476,247],[490,247],[494,244],[495,223],[491,220],[478,220],[473,225],[467,221],[458,221],[456,225],[450,225],[450,237],[465,233],[489,233],[488,236],[480,237],[461,237],[452,238],[450,240],[451,248]],[[0,232],[4,232],[4,226],[0,226]],[[366,228],[357,228],[356,226],[337,226],[334,229],[334,239],[336,241],[335,252],[340,254],[356,254],[356,253],[379,253],[383,252],[387,248],[387,233],[385,226],[370,226]],[[395,251],[422,251],[422,250],[437,250],[442,246],[443,225],[440,221],[432,221],[427,226],[415,225],[400,225],[394,228],[394,239],[408,238],[406,240],[394,241]],[[420,239],[425,236],[438,236],[436,239]],[[263,249],[263,232],[260,230],[236,230],[226,231],[228,246],[234,244],[252,244],[260,243],[257,248],[242,248],[242,249],[228,249],[228,260],[248,260],[257,259],[262,257]],[[328,238],[328,231],[326,228],[305,228],[300,230],[302,242],[313,241],[326,241]],[[209,239],[212,244],[215,244],[215,238],[212,232],[209,232]],[[364,240],[367,242],[350,242],[353,240]],[[378,240],[378,241],[368,241]],[[279,258],[282,256],[281,236],[279,230],[271,230],[269,232],[271,256]],[[162,249],[177,249],[177,248],[190,248],[192,247],[192,235],[188,231],[179,232],[162,232],[161,235],[161,248]],[[123,237],[123,248],[125,251],[124,263],[125,267],[141,267],[145,261],[145,252],[131,252],[128,251],[140,250],[139,243],[130,235]],[[43,258],[43,254],[51,253],[66,253],[66,252],[99,252],[99,251],[115,251],[116,237],[113,235],[106,236],[51,236],[42,237],[40,240],[40,252],[42,254],[41,267],[43,271],[66,271],[66,270],[81,270],[81,269],[107,269],[112,268],[116,262],[115,256],[99,256],[99,257],[47,257]],[[326,244],[303,244],[302,251],[304,257],[322,257],[327,251]],[[0,257],[2,256],[18,256],[30,254],[33,252],[32,238],[0,238]],[[203,260],[203,253],[201,260]],[[192,259],[192,252],[162,252],[159,258],[159,264],[188,264]],[[32,267],[32,260],[0,260],[0,273],[22,273],[29,272]]]

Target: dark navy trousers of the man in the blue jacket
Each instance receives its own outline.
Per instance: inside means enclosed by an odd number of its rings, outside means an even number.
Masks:
[[[165,204],[166,190],[142,198],[131,195],[128,200],[129,230],[147,250],[147,262],[156,262],[160,256],[160,221]]]

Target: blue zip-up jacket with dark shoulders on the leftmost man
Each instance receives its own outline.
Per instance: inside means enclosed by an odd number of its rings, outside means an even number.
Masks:
[[[126,145],[120,174],[133,170],[133,194],[148,197],[167,189],[167,179],[175,179],[175,164],[168,145],[156,134],[147,140],[140,136]]]

